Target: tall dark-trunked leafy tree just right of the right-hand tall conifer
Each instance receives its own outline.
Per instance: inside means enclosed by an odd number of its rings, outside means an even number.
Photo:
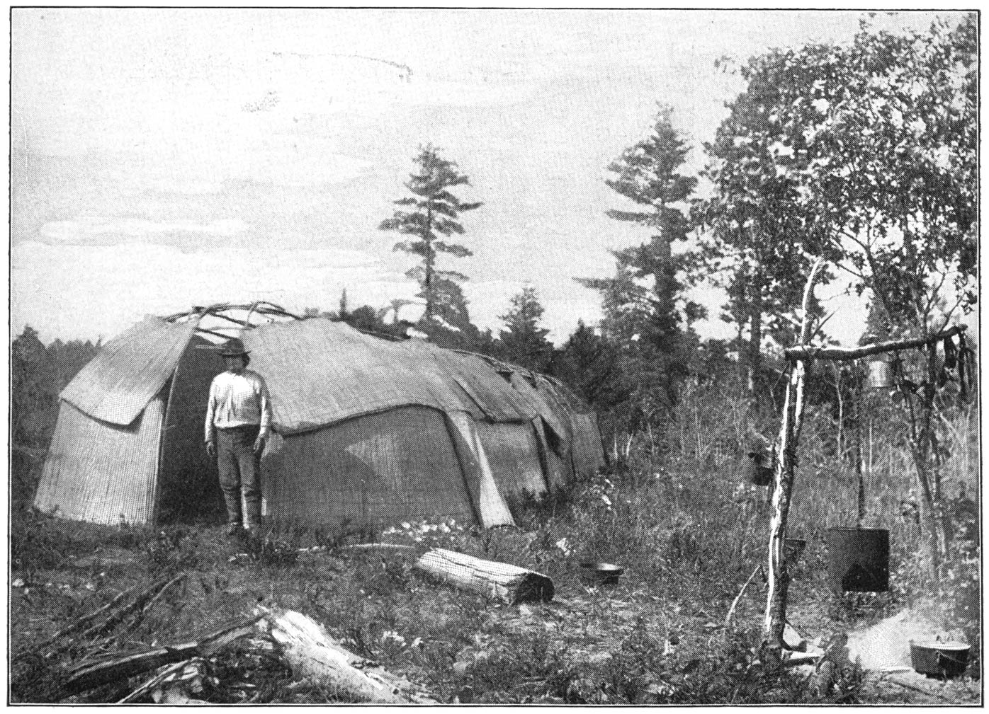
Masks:
[[[705,144],[711,198],[695,205],[707,231],[702,255],[713,281],[726,288],[722,318],[736,322],[748,388],[758,395],[766,327],[799,305],[814,257],[826,249],[826,226],[804,199],[803,175],[791,170],[806,153],[799,127],[815,112],[807,77],[826,71],[830,48],[772,50],[740,70],[746,90]],[[828,278],[827,276],[825,277]],[[769,325],[766,325],[768,320]],[[744,348],[744,350],[743,350]]]

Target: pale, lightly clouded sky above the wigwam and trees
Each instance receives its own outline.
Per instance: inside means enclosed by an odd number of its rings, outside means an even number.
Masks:
[[[648,230],[606,166],[657,103],[703,165],[742,85],[715,67],[771,46],[850,40],[854,11],[15,8],[11,331],[113,337],[145,314],[264,299],[289,310],[413,298],[413,259],[378,229],[420,145],[470,177],[459,195],[472,321],[495,334],[524,286],[557,344],[601,315],[574,278]],[[950,15],[943,17],[949,18]],[[923,29],[930,13],[879,15]],[[819,291],[825,298],[845,283]],[[723,295],[693,295],[729,337]],[[852,298],[831,333],[851,344]],[[405,308],[414,320],[421,308]]]

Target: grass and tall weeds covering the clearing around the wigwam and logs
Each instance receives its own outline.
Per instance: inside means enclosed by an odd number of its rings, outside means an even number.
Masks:
[[[903,417],[891,405],[880,407],[885,411],[877,412],[868,442],[864,524],[890,530],[891,592],[854,598],[830,593],[826,530],[857,517],[854,435],[843,430],[839,443],[833,413],[811,407],[789,522],[791,535],[809,541],[794,564],[791,621],[816,637],[901,607],[948,603],[940,613],[944,622],[966,625],[977,660],[978,529],[952,501],[954,531],[970,537],[956,539],[949,575],[932,582],[915,557],[920,528],[901,503],[913,483]],[[978,414],[965,407],[946,412],[943,421],[941,436],[951,454],[944,461],[945,493],[964,483],[977,503]],[[690,385],[662,444],[633,439],[620,465],[548,498],[513,500],[517,528],[482,530],[450,521],[385,531],[285,526],[246,547],[225,540],[219,528],[108,528],[20,511],[11,524],[12,565],[26,586],[15,591],[11,606],[20,673],[13,680],[15,698],[53,696],[38,674],[56,678],[60,664],[45,660],[44,668],[38,666],[31,659],[35,643],[128,587],[184,573],[181,587],[131,629],[116,633],[120,641],[129,647],[182,641],[249,613],[263,599],[314,617],[348,649],[404,674],[442,702],[881,701],[854,668],[840,672],[836,688],[822,693],[764,658],[761,578],[726,626],[742,584],[767,555],[766,489],[745,483],[739,464],[750,436],[777,431],[772,413],[751,412],[732,385]],[[348,547],[361,540],[411,550]],[[415,554],[427,547],[544,573],[556,585],[556,598],[526,610],[442,586],[413,568]],[[584,582],[580,564],[591,560],[623,566],[619,584],[605,590]],[[66,656],[91,644],[77,643]],[[211,667],[227,680],[250,671],[249,659],[232,653]],[[271,663],[267,668],[251,671],[264,682],[254,690],[255,703],[333,700],[331,692],[293,682]],[[87,696],[101,701],[109,693]],[[242,701],[225,685],[204,696],[215,703]]]

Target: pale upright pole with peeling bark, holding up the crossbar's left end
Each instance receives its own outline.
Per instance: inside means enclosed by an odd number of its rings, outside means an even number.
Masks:
[[[818,258],[811,269],[803,294],[803,321],[800,326],[801,347],[810,343],[810,302],[814,284],[820,277],[824,259]],[[765,635],[769,647],[776,651],[783,647],[783,630],[786,627],[786,595],[790,577],[783,557],[786,538],[786,520],[790,511],[790,494],[793,490],[793,474],[797,463],[797,441],[803,426],[804,378],[812,357],[798,357],[790,373],[783,403],[783,423],[779,430],[779,460],[772,480],[772,516],[769,520],[769,589],[765,596]]]

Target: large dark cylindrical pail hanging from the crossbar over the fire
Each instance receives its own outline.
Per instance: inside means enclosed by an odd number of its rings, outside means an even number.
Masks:
[[[889,590],[889,531],[828,528],[828,580],[839,592]]]

